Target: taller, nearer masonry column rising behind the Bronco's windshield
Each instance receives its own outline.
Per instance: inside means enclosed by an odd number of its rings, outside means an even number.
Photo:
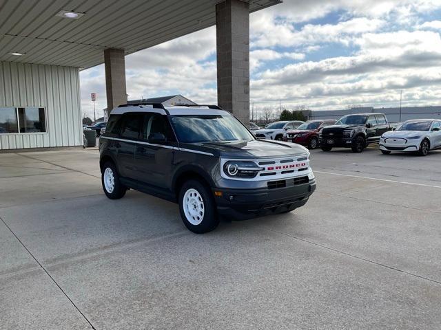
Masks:
[[[249,123],[249,3],[216,5],[218,104]]]

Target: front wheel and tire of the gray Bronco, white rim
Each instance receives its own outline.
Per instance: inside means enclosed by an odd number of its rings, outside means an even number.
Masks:
[[[179,212],[185,227],[196,234],[211,232],[219,224],[216,206],[209,188],[191,179],[179,191]]]

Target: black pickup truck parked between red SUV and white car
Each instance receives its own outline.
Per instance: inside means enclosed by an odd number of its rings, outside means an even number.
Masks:
[[[335,125],[320,131],[320,148],[352,148],[353,153],[361,153],[368,144],[379,142],[387,131],[391,131],[391,126],[383,113],[344,115]]]

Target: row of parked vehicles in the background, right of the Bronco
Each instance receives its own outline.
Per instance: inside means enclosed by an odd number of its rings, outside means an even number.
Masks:
[[[408,120],[392,125],[383,113],[356,113],[344,115],[337,122],[309,120],[288,130],[283,140],[311,149],[320,146],[322,151],[339,147],[361,153],[369,144],[378,143],[384,154],[411,151],[427,155],[430,150],[441,148],[441,120]]]

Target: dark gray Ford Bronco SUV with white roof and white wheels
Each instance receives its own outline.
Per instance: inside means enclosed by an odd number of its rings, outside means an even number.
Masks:
[[[99,140],[105,195],[132,188],[179,204],[196,233],[219,217],[250,219],[305,205],[316,188],[309,151],[256,140],[220,107],[127,104],[110,114]]]

